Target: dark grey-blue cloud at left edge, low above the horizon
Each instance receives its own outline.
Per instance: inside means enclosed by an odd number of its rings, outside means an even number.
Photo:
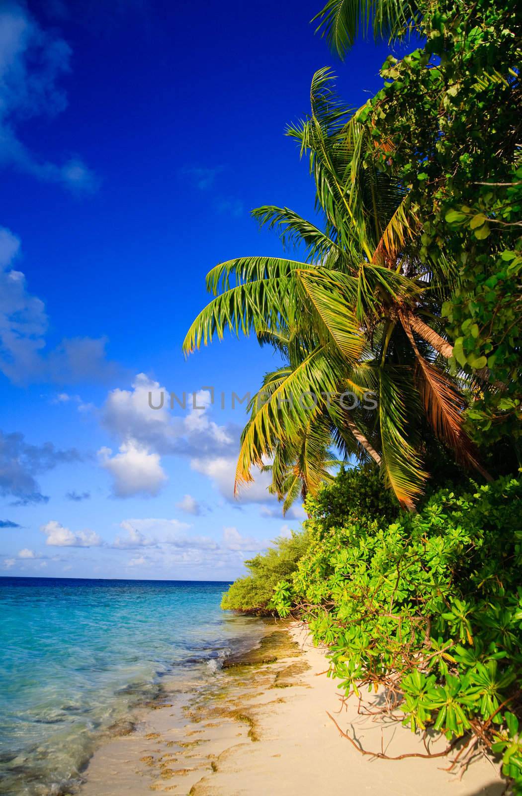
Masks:
[[[53,443],[31,445],[23,434],[0,431],[0,496],[14,497],[14,505],[46,503],[49,497],[41,494],[36,476],[81,460],[76,448],[62,451]]]

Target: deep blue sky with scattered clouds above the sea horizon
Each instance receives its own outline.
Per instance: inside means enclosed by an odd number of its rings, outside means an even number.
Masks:
[[[281,251],[252,208],[314,213],[283,135],[314,71],[354,107],[380,88],[388,45],[336,62],[317,10],[0,3],[0,574],[232,579],[298,528],[266,476],[232,495],[230,396],[273,355],[228,338],[185,361],[181,342],[213,265]],[[205,409],[154,412],[161,388]]]

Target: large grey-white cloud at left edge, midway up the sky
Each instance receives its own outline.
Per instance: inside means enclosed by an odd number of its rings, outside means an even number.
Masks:
[[[114,379],[119,368],[107,361],[107,338],[65,338],[45,349],[49,319],[44,302],[30,295],[25,276],[12,267],[19,254],[18,237],[0,227],[0,371],[15,384]],[[60,403],[67,400],[70,396],[60,393]]]

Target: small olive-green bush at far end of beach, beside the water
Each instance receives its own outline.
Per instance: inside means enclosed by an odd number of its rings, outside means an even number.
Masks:
[[[221,607],[224,611],[244,611],[251,614],[275,612],[272,596],[276,583],[292,575],[298,561],[308,548],[308,533],[295,533],[290,538],[279,537],[275,548],[245,561],[251,575],[239,578],[224,592]]]

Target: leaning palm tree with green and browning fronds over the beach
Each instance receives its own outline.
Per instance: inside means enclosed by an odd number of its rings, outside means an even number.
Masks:
[[[242,257],[213,268],[207,288],[215,298],[184,349],[228,329],[254,331],[282,355],[283,367],[267,374],[251,401],[236,487],[269,459],[272,489],[287,506],[329,477],[334,444],[345,457],[372,458],[413,509],[427,478],[415,433],[420,416],[457,458],[477,465],[440,322],[457,275],[451,263],[437,273],[421,263],[415,208],[376,167],[368,128],[341,105],[328,69],[314,75],[310,96],[310,115],[288,135],[309,154],[323,228],[287,208],[255,210],[261,224],[279,229],[286,248],[305,249],[304,261]],[[359,399],[353,409],[340,400],[347,390]],[[377,397],[373,412],[369,392]]]

